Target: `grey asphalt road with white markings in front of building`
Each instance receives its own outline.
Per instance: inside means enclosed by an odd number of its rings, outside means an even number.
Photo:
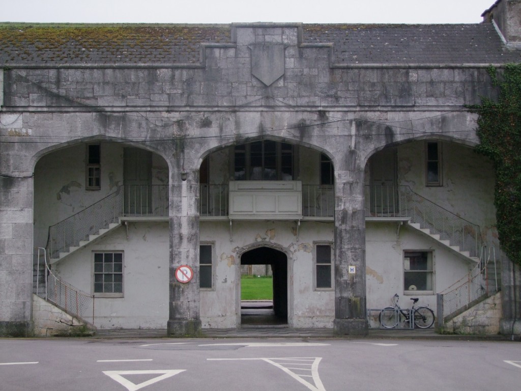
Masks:
[[[518,390],[521,344],[385,339],[0,339],[0,390]]]

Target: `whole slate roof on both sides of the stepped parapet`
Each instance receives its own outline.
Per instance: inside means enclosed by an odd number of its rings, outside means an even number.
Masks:
[[[490,23],[304,24],[303,43],[333,43],[344,65],[521,62]],[[197,64],[201,43],[231,43],[231,25],[0,25],[0,65]]]

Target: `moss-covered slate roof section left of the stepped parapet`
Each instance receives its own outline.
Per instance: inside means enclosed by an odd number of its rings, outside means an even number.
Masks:
[[[230,26],[0,25],[0,63],[197,63],[202,42],[230,42]]]

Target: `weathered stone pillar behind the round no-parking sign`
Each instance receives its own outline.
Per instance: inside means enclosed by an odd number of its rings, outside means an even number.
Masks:
[[[170,306],[168,335],[197,336],[201,332],[199,314],[199,167],[178,158],[170,175]],[[181,179],[184,167],[186,180]],[[196,167],[196,168],[194,168]],[[189,265],[194,276],[180,283],[175,271]]]

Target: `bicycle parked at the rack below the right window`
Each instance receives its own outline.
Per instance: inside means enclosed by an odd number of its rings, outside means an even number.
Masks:
[[[412,313],[414,316],[414,325],[419,328],[429,328],[434,324],[434,311],[427,306],[415,307],[414,304],[418,302],[417,297],[412,297],[412,307],[409,309],[403,309],[398,304],[398,294],[394,294],[392,298],[392,307],[386,307],[380,311],[379,320],[380,324],[385,328],[393,328],[398,326],[398,323],[402,320],[402,316],[405,317],[405,322],[411,322]]]

